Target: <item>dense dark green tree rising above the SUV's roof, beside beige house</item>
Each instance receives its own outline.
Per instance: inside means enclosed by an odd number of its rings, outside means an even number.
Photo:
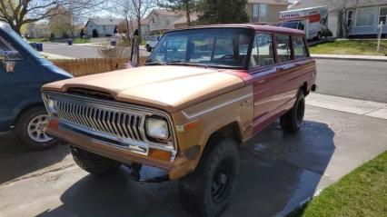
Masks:
[[[247,23],[247,0],[202,0],[199,22],[202,24]]]

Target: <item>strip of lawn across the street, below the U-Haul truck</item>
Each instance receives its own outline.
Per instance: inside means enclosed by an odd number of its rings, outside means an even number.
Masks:
[[[336,40],[310,47],[312,54],[387,55],[387,40],[382,40],[381,51],[376,51],[377,40]]]

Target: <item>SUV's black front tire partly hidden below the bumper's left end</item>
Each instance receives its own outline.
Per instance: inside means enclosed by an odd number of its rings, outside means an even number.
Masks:
[[[104,175],[113,173],[122,163],[105,158],[95,153],[90,153],[79,148],[71,147],[74,162],[87,173]]]

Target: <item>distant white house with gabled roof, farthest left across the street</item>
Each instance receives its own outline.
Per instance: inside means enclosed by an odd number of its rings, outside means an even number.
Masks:
[[[93,37],[94,31],[98,33],[99,37],[114,35],[117,32],[117,25],[123,21],[124,19],[91,18],[85,25],[87,35]]]

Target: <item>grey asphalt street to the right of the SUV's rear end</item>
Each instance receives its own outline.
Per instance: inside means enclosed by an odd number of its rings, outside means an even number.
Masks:
[[[317,61],[317,93],[387,103],[387,62]]]

